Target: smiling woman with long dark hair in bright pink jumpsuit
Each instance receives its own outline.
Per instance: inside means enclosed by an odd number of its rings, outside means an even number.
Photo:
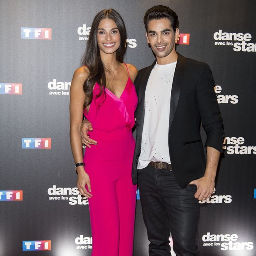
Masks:
[[[100,11],[91,26],[84,65],[75,71],[70,89],[70,140],[77,187],[89,198],[93,256],[132,256],[136,203],[132,127],[137,105],[133,80],[137,69],[123,63],[126,38],[117,11]],[[98,142],[87,147],[84,158],[83,113],[93,124],[90,136]]]

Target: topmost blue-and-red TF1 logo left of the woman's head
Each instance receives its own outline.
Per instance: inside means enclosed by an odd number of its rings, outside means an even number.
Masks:
[[[22,39],[52,39],[51,28],[37,28],[37,27],[22,27],[21,28]]]

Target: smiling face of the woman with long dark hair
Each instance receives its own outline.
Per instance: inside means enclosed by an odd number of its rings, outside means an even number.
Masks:
[[[97,42],[101,54],[112,54],[120,46],[120,33],[113,19],[102,19],[98,26]]]

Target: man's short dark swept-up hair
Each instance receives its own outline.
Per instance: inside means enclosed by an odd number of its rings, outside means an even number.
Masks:
[[[160,4],[146,11],[143,20],[146,31],[148,31],[148,23],[152,19],[169,19],[173,33],[175,34],[176,28],[178,27],[178,15],[169,7]]]

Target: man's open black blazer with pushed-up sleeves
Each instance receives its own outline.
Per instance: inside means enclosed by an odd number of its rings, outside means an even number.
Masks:
[[[137,184],[137,164],[145,114],[145,90],[155,62],[139,70],[134,82],[139,102],[136,109],[136,147],[132,163],[133,184]],[[154,117],[152,118],[154,122]],[[200,136],[201,121],[207,135],[205,147],[214,147],[222,152],[224,127],[211,69],[203,62],[185,58],[178,53],[171,92],[169,137],[166,139],[173,174],[181,188],[190,181],[202,177],[205,172],[206,160]]]

